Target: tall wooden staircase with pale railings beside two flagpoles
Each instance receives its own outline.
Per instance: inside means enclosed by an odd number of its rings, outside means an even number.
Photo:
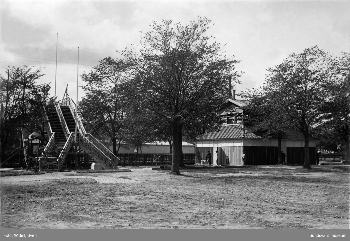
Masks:
[[[69,151],[74,150],[73,146],[82,148],[96,162],[102,163],[105,169],[118,168],[119,158],[91,134],[86,133],[79,116],[75,132],[74,102],[69,97],[59,101],[55,98],[51,100],[54,101],[55,109],[50,113],[44,113],[47,114],[46,129],[50,132],[50,140],[39,158],[40,168],[53,166],[57,168],[57,172],[60,171]]]

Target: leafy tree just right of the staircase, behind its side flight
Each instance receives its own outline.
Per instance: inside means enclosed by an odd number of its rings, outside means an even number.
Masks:
[[[127,64],[122,60],[106,57],[92,69],[89,74],[81,75],[86,82],[81,87],[86,93],[79,102],[79,113],[94,129],[109,136],[113,144],[113,154],[116,155],[121,143],[124,108],[128,102],[124,98],[123,88],[120,87]]]

